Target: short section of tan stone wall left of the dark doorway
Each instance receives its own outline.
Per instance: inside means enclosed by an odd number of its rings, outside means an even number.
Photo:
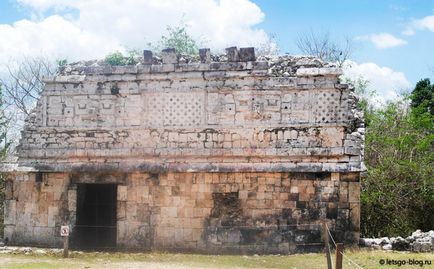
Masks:
[[[36,173],[9,175],[5,191],[4,237],[11,244],[62,246],[60,226],[69,223],[69,175]]]

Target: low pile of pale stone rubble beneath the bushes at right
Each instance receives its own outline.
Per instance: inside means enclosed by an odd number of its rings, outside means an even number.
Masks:
[[[360,239],[360,245],[373,249],[430,252],[434,251],[434,231],[424,233],[421,230],[416,230],[406,238],[400,236],[391,238],[362,238]]]

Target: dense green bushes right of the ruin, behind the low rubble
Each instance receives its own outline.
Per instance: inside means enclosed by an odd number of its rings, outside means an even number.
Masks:
[[[403,99],[365,112],[363,236],[434,229],[433,116],[417,109]]]

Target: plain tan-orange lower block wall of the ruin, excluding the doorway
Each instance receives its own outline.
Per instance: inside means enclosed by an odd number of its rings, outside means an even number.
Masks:
[[[209,253],[294,253],[359,239],[358,173],[44,173],[9,181],[5,236],[13,244],[74,242],[76,184],[115,183],[117,247]]]

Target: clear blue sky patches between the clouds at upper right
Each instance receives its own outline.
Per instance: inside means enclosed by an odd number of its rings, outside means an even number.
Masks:
[[[377,49],[372,43],[354,41],[353,59],[375,62],[402,71],[415,83],[433,77],[434,33],[422,30],[413,36],[402,35],[412,20],[434,13],[430,0],[254,0],[265,13],[258,25],[276,33],[284,52],[297,52],[294,40],[310,28],[329,31],[335,38],[391,33],[408,43],[390,49]],[[322,29],[322,30],[321,30]]]

